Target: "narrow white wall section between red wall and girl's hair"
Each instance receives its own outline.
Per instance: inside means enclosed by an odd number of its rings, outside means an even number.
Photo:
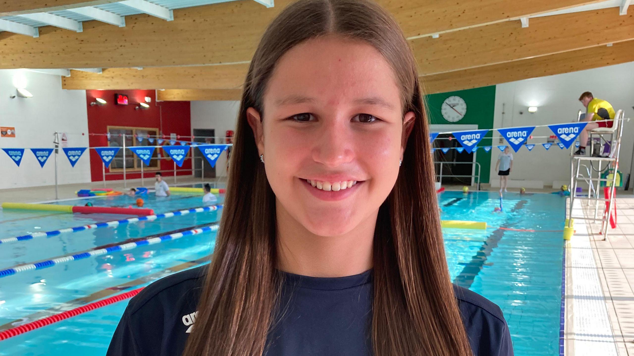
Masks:
[[[217,137],[224,137],[226,130],[236,129],[240,101],[192,101],[190,106],[191,130],[215,129]],[[216,142],[219,142],[216,139]],[[216,162],[216,176],[227,175],[226,153]]]

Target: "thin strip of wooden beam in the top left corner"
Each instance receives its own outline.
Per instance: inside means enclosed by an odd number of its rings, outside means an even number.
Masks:
[[[117,3],[120,0],[0,0],[0,16],[68,10]]]

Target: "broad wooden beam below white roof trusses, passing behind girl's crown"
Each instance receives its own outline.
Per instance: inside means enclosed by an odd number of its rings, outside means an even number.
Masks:
[[[131,15],[126,16],[127,26],[121,28],[89,21],[84,23],[84,32],[80,34],[68,34],[52,27],[41,27],[40,37],[37,39],[1,32],[0,42],[3,48],[0,68],[126,68],[246,63],[252,57],[268,23],[291,1],[277,0],[274,8],[265,8],[255,1],[244,0],[177,9],[174,10],[174,21],[170,22],[158,22],[156,18],[145,14]],[[419,57],[427,58],[426,55],[429,53],[429,60],[434,65],[437,63],[436,57],[444,60],[462,56],[465,53],[462,47],[469,46],[470,41],[474,41],[474,36],[475,42],[484,41],[477,37],[479,30],[506,24],[508,27],[503,28],[505,32],[495,32],[490,41],[502,41],[515,48],[516,44],[506,41],[506,38],[510,37],[509,30],[519,28],[519,21],[516,26],[515,22],[508,20],[596,1],[379,2],[394,13],[406,37],[417,38],[420,35],[443,33],[439,39],[425,37],[412,42],[414,47],[418,48]],[[85,3],[82,3],[82,6],[85,6]],[[618,8],[615,9],[618,12]],[[535,27],[535,22],[536,19],[531,20],[529,29]],[[602,23],[594,20],[593,22]],[[496,24],[484,26],[490,23]],[[587,18],[584,18],[583,23],[587,23]],[[561,27],[562,24],[559,23],[556,29]],[[593,29],[595,27],[589,27],[588,31]],[[448,31],[450,33],[446,33]],[[463,32],[469,32],[466,38],[465,35],[461,35]],[[548,29],[547,34],[541,34],[538,38],[553,33],[557,32]],[[461,39],[460,46],[451,45],[451,41],[456,37]],[[427,40],[436,42],[426,42]],[[441,72],[444,71],[443,68],[427,68],[428,71],[425,73],[434,73],[429,70]]]

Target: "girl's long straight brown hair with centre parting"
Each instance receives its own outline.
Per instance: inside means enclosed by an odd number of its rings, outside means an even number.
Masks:
[[[416,114],[403,166],[375,229],[374,354],[472,355],[444,256],[417,65],[396,20],[368,0],[299,0],[264,33],[243,88],[216,250],[184,355],[264,352],[281,284],[275,269],[275,196],[246,111],[262,113],[262,96],[283,54],[323,35],[365,41],[382,53],[402,89],[403,113]]]

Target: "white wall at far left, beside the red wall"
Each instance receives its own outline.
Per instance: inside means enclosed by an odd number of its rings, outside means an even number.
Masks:
[[[33,98],[15,95],[14,79],[26,82]],[[61,89],[61,77],[25,70],[0,70],[0,126],[15,127],[16,137],[0,137],[0,148],[53,148],[53,133],[66,132],[68,147],[88,146],[86,91]],[[60,149],[60,184],[90,182],[89,155],[74,168]],[[0,189],[55,184],[55,153],[44,168],[30,149],[25,150],[20,167],[0,151]]]

